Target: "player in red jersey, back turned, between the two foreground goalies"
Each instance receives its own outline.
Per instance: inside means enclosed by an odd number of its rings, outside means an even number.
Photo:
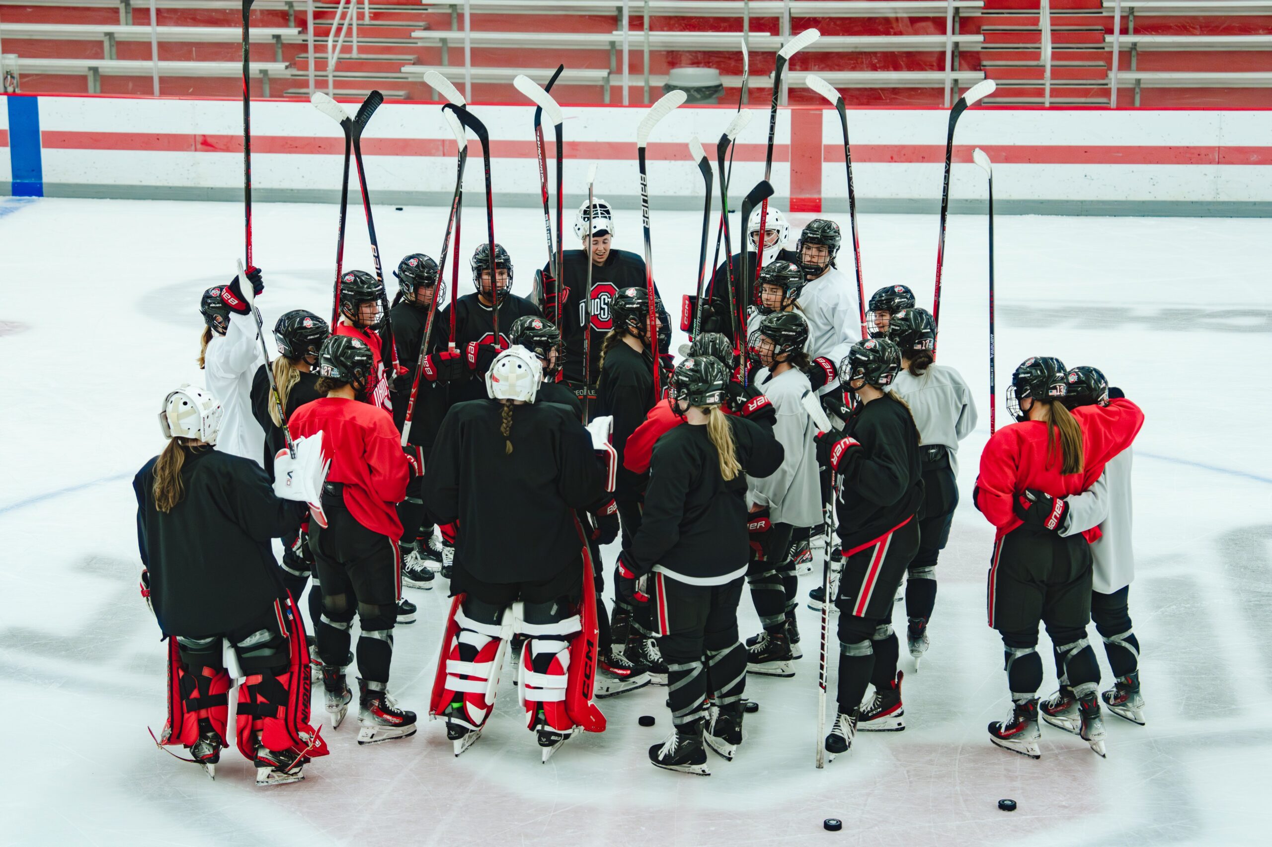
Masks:
[[[406,496],[411,457],[385,410],[357,402],[375,373],[375,356],[359,338],[332,336],[318,356],[318,390],[326,397],[291,416],[296,436],[322,431],[331,472],[319,504],[310,506],[309,546],[322,580],[318,655],[332,726],[345,719],[352,692],[342,665],[357,614],[359,744],[415,734],[415,712],[389,697],[393,626],[402,595],[397,504]],[[415,468],[418,472],[418,468]],[[317,507],[315,507],[317,506]]]

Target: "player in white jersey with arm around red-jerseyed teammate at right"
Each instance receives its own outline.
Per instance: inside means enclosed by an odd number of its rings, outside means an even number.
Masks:
[[[1070,369],[1065,376],[1067,408],[1108,406],[1109,398],[1123,397],[1109,388],[1095,368]],[[1135,551],[1131,547],[1131,453],[1127,448],[1109,459],[1099,481],[1080,495],[1065,497],[1067,511],[1057,532],[1074,535],[1099,527],[1099,539],[1091,542],[1091,618],[1104,640],[1104,654],[1113,670],[1113,687],[1100,692],[1109,711],[1144,726],[1144,696],[1140,693],[1140,641],[1131,627],[1127,595],[1135,579]],[[1054,502],[1046,495],[1028,507],[1048,514]],[[1076,733],[1077,697],[1065,677],[1063,654],[1054,650],[1060,691],[1040,705],[1042,719],[1053,726]]]

